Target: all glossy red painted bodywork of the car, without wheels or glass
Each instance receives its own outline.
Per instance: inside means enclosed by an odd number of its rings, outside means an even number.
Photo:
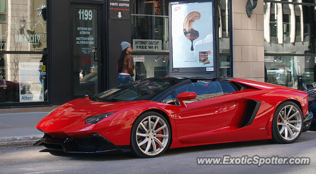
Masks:
[[[61,105],[43,118],[37,128],[53,137],[78,138],[98,133],[116,145],[129,145],[135,119],[146,111],[156,111],[168,119],[172,133],[170,148],[176,148],[271,139],[272,119],[276,107],[287,100],[297,103],[302,108],[303,114],[307,112],[308,94],[303,91],[244,79],[231,81],[252,86],[253,89],[237,91],[186,106],[152,101],[107,103],[91,101],[88,98],[76,99]],[[242,127],[248,109],[247,103],[250,100],[259,101],[261,104],[253,122]],[[89,116],[113,111],[115,113],[96,124],[84,122]]]

